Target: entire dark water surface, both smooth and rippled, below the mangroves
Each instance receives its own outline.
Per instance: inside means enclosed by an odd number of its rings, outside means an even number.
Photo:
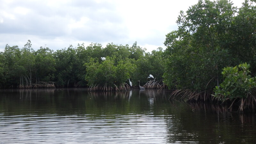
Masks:
[[[0,143],[255,143],[254,114],[170,92],[0,90]]]

